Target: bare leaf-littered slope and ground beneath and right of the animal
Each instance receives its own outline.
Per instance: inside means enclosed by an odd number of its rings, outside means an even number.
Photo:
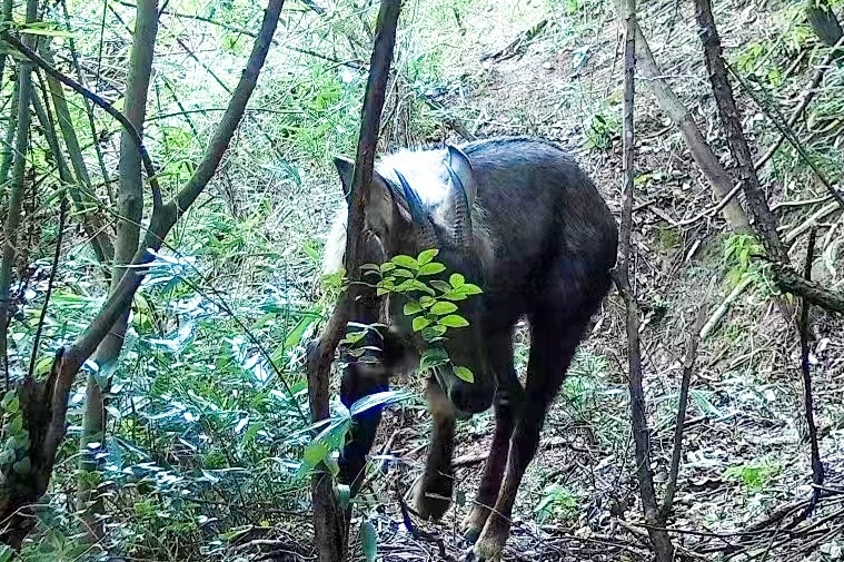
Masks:
[[[728,49],[768,24],[768,12],[727,8],[741,13],[739,18],[722,18]],[[537,23],[540,20],[537,16]],[[471,37],[471,22],[466,24]],[[659,37],[652,39],[657,60],[669,69],[673,85],[726,160],[688,7],[677,10],[674,2],[649,6],[643,27],[647,37]],[[654,33],[657,29],[665,34]],[[596,13],[590,32],[587,41],[573,41],[559,22],[548,21],[533,30],[504,26],[483,42],[467,41],[455,63],[469,70],[440,101],[468,116],[466,124],[478,137],[535,134],[563,144],[577,154],[617,214],[620,139],[612,120],[620,116],[622,69],[612,11]],[[615,102],[607,105],[607,100]],[[596,131],[595,115],[605,116],[609,132]],[[754,117],[752,108],[745,117]],[[645,385],[653,469],[662,493],[673,447],[686,334],[699,314],[712,316],[725,300],[729,290],[724,279],[731,270],[723,258],[723,220],[701,216],[702,209],[716,203],[708,184],[671,121],[641,85],[636,135],[636,289],[646,314],[642,332]],[[592,145],[586,146],[584,139],[590,138]],[[787,198],[782,186],[768,188],[772,203]],[[795,220],[790,228],[800,225],[801,220],[790,218]],[[793,250],[796,263],[803,246],[797,244]],[[715,282],[707,299],[711,279]],[[731,304],[701,344],[678,492],[668,523],[679,553],[689,559],[816,561],[842,556],[841,493],[825,497],[802,526],[765,526],[766,520],[778,521],[777,514],[802,509],[812,493],[794,308],[785,307],[785,317],[771,298],[771,288],[753,285]],[[651,556],[632,459],[623,315],[620,297],[613,292],[547,416],[540,451],[519,491],[504,560]],[[827,486],[841,490],[844,322],[817,312],[812,324],[821,456]],[[524,371],[524,361],[522,367]],[[376,459],[383,461],[384,474],[371,482],[360,501],[371,500],[380,506],[375,523],[384,561],[459,560],[467,548],[459,521],[477,490],[493,420],[484,414],[458,425],[455,496],[459,501],[439,523],[416,521],[428,531],[427,539],[420,539],[401,524],[398,497],[407,495],[421,472],[428,427],[421,407],[390,410],[381,423],[374,453],[381,455]]]

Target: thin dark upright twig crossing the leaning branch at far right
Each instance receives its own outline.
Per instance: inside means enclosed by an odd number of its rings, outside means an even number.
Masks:
[[[808,247],[806,248],[806,264],[803,268],[803,275],[807,280],[812,279],[812,262],[815,254],[815,239],[817,230],[815,227],[808,231]],[[808,427],[808,438],[812,454],[812,483],[815,486],[822,486],[824,484],[824,465],[821,462],[821,451],[817,446],[817,426],[815,425],[814,404],[812,400],[812,371],[808,364],[808,312],[812,308],[812,304],[805,298],[801,304],[800,314],[800,349],[801,349],[801,371],[803,372],[803,408],[806,416],[806,426]],[[810,502],[806,511],[803,513],[803,517],[808,517],[812,511],[821,500],[822,491],[820,487],[814,487],[812,492],[812,501]]]

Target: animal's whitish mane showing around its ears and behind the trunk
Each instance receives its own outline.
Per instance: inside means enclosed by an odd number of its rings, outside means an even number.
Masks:
[[[399,179],[396,171],[400,172],[409,183],[414,191],[419,196],[425,211],[434,224],[451,234],[454,231],[451,219],[451,206],[449,201],[450,185],[448,183],[448,169],[445,162],[446,151],[437,150],[410,150],[401,149],[378,159],[375,170],[389,184],[394,193],[401,194]],[[471,230],[475,238],[475,249],[480,258],[484,270],[489,270],[494,258],[490,233],[487,228],[486,213],[480,205],[480,197],[475,198],[471,208]],[[404,198],[399,203],[405,205]],[[331,229],[326,239],[322,259],[322,273],[334,274],[342,269],[342,259],[346,253],[346,223],[348,220],[348,206],[341,200],[331,220]]]

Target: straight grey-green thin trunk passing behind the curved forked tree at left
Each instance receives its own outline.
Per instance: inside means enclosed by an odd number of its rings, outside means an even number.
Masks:
[[[152,56],[158,33],[158,0],[138,2],[135,23],[135,38],[129,59],[129,80],[126,87],[126,117],[135,129],[142,135],[143,118],[147,109],[147,92],[152,75]],[[123,130],[120,137],[120,161],[118,164],[120,181],[118,184],[117,237],[115,239],[115,265],[111,276],[111,292],[118,287],[126,270],[126,264],[132,260],[140,240],[140,224],[143,219],[143,180],[141,178],[141,156],[136,139]],[[93,354],[98,373],[89,373],[86,387],[86,403],[82,415],[80,438],[80,476],[77,493],[78,509],[83,513],[82,521],[90,540],[100,540],[103,535],[103,506],[97,496],[102,453],[106,451],[106,401],[110,375],[123,347],[130,307],[127,307],[100,342]]]

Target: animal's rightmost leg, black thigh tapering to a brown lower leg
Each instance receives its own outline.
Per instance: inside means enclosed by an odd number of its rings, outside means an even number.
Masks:
[[[539,432],[548,406],[559,390],[588,321],[543,313],[530,318],[532,344],[525,405],[516,422],[504,483],[495,509],[467,560],[498,560],[507,542],[516,493],[539,445]]]

